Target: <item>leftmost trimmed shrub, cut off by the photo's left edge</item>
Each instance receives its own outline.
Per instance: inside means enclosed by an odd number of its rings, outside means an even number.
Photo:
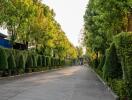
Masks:
[[[0,70],[4,71],[8,69],[7,55],[5,50],[0,48]]]

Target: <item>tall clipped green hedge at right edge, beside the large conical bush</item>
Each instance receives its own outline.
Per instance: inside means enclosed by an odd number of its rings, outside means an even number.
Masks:
[[[121,61],[128,98],[132,98],[132,32],[123,32],[114,38]]]

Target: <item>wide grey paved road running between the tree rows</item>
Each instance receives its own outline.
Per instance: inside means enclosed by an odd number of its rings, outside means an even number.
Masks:
[[[95,73],[83,66],[3,81],[0,100],[115,100]]]

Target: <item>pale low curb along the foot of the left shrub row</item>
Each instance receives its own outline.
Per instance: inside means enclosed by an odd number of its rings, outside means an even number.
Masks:
[[[63,68],[66,68],[66,67],[63,67]],[[45,70],[45,71],[40,71],[40,72],[24,73],[24,74],[15,75],[15,76],[9,76],[9,77],[0,77],[0,80],[15,79],[15,78],[26,77],[26,76],[28,77],[30,75],[37,75],[37,74],[42,74],[42,73],[53,72],[53,71],[61,70],[63,68]]]

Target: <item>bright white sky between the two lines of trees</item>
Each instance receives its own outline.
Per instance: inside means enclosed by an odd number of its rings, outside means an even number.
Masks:
[[[42,0],[56,13],[55,19],[74,46],[79,46],[80,31],[88,0]]]

